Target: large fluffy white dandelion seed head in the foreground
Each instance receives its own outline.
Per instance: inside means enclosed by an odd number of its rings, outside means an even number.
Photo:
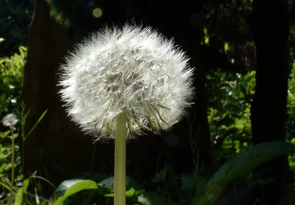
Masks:
[[[114,138],[127,113],[127,137],[158,133],[192,104],[188,57],[150,27],[105,28],[79,44],[61,68],[61,98],[71,119],[95,137]]]

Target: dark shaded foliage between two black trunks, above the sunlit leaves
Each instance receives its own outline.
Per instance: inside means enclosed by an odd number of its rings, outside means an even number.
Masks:
[[[208,49],[214,50],[231,62],[226,66],[214,55],[208,56],[207,65],[215,65],[226,71],[246,72],[255,68],[255,46],[250,32],[249,19],[252,2],[249,0],[229,0],[208,3],[203,9],[203,41]],[[210,62],[213,61],[213,62]],[[215,63],[217,62],[217,64]]]

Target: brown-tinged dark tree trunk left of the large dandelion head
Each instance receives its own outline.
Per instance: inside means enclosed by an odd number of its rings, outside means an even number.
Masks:
[[[77,176],[91,166],[91,138],[69,121],[57,94],[58,68],[71,45],[68,30],[50,16],[46,0],[36,0],[22,93],[30,109],[25,132],[48,112],[25,141],[25,171],[37,170],[37,175],[54,183],[71,177],[69,171]]]

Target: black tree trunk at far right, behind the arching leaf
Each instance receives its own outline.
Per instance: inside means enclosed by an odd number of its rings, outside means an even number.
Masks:
[[[288,91],[288,0],[254,0],[251,28],[257,51],[256,92],[251,107],[253,143],[285,140]],[[288,176],[287,156],[256,169],[273,181],[254,190],[254,201],[279,205]],[[265,199],[264,199],[265,198]]]

